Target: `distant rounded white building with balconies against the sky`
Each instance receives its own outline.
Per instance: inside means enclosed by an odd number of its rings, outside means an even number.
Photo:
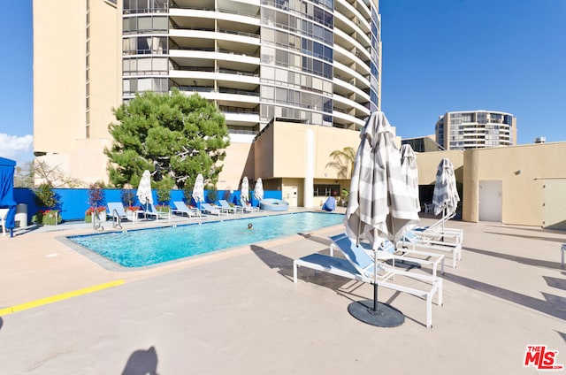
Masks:
[[[516,118],[499,111],[454,111],[440,116],[436,142],[444,149],[483,149],[516,144]]]

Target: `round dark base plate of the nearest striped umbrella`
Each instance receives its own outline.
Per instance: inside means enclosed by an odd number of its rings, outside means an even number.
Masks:
[[[378,302],[378,309],[374,311],[373,300],[352,302],[348,305],[348,312],[365,324],[379,327],[396,327],[405,321],[400,310],[386,303]]]

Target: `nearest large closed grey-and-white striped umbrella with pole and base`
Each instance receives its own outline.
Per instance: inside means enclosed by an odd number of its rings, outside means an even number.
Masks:
[[[383,112],[371,114],[360,138],[344,222],[350,238],[355,238],[357,244],[365,238],[370,241],[371,249],[377,251],[383,240],[394,240],[418,215],[402,180],[393,128]],[[370,325],[401,325],[404,321],[401,311],[378,302],[377,256],[375,259],[373,301],[350,303],[348,311]]]

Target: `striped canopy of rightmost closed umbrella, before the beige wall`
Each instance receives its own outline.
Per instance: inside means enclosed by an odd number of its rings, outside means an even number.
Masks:
[[[432,194],[432,205],[434,215],[444,212],[446,216],[454,215],[456,207],[460,202],[460,195],[456,189],[456,178],[454,165],[445,157],[440,160],[439,168],[436,172],[436,182],[434,193]]]

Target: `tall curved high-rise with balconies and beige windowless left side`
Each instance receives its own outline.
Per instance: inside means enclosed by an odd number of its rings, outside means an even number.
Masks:
[[[146,90],[209,99],[233,142],[273,118],[357,130],[380,108],[378,0],[33,6],[34,153],[79,180],[106,180],[111,110]]]

